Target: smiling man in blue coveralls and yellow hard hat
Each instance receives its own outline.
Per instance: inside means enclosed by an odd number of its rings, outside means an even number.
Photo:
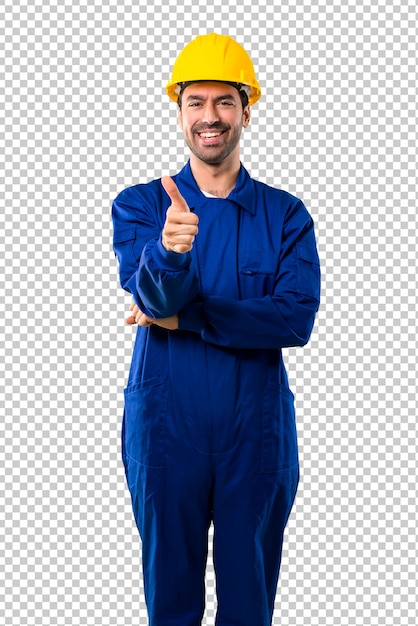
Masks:
[[[138,324],[122,444],[149,623],[201,623],[213,522],[216,624],[267,626],[299,478],[281,349],[306,344],[318,308],[313,223],[240,163],[261,91],[237,42],[197,37],[167,93],[190,161],[113,205]]]

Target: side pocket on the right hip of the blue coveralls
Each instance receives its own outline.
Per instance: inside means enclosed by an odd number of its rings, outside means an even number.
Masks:
[[[285,385],[269,383],[264,392],[261,473],[287,470],[298,462],[293,393]]]

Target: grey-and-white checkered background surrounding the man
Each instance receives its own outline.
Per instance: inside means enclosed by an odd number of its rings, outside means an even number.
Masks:
[[[147,623],[110,206],[183,165],[164,85],[215,30],[263,86],[243,161],[304,200],[322,260],[312,339],[286,351],[302,479],[274,624],[415,626],[416,3],[161,4],[3,2],[0,622]]]

